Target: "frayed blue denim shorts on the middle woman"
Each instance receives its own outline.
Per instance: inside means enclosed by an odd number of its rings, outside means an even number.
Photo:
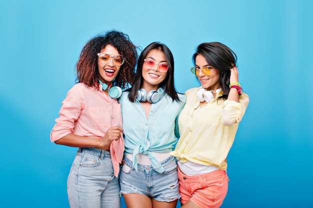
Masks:
[[[159,202],[172,202],[180,198],[177,164],[170,156],[160,162],[165,169],[157,173],[150,165],[139,165],[134,170],[132,161],[124,157],[128,172],[120,171],[120,194],[141,194]]]

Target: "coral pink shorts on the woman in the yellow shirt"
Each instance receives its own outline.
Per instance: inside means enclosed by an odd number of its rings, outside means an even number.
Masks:
[[[200,208],[219,208],[226,197],[228,177],[225,171],[217,171],[197,176],[186,176],[179,168],[178,181],[180,203],[190,200]]]

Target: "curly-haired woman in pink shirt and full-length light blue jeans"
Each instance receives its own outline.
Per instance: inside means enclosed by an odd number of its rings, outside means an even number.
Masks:
[[[118,172],[124,142],[120,88],[132,84],[136,46],[119,31],[90,39],[76,64],[77,81],[67,93],[50,139],[78,147],[68,179],[71,208],[120,208]]]

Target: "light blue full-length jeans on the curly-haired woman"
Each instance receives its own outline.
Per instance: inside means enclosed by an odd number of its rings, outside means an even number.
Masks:
[[[70,208],[120,208],[110,153],[79,148],[68,175],[67,194]]]

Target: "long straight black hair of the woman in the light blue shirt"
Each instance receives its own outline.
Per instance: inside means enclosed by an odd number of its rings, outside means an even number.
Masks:
[[[146,46],[139,58],[138,58],[138,63],[137,63],[137,70],[136,70],[136,75],[134,82],[132,84],[132,87],[129,89],[130,93],[128,94],[128,99],[131,102],[135,102],[136,96],[137,96],[137,91],[140,89],[142,86],[143,78],[142,78],[142,65],[144,63],[143,59],[145,59],[146,55],[150,50],[159,50],[164,53],[165,60],[168,64],[168,71],[166,74],[165,79],[160,83],[160,87],[164,89],[164,92],[166,92],[172,99],[173,101],[179,101],[177,92],[174,87],[174,58],[171,53],[171,51],[168,49],[168,47],[162,43],[159,42],[152,42],[148,46]]]

